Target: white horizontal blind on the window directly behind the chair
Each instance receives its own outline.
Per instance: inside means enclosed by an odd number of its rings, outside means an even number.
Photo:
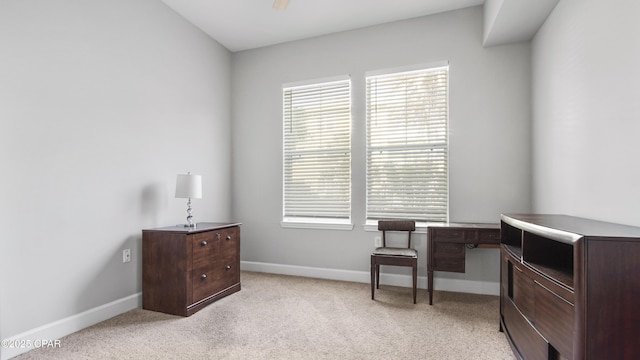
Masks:
[[[448,74],[367,76],[367,220],[447,221]]]

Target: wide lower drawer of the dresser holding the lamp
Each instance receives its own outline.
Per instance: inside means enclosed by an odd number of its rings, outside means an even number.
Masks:
[[[212,264],[195,269],[191,272],[193,284],[193,302],[228,288],[239,282],[240,269],[237,257],[229,256]]]

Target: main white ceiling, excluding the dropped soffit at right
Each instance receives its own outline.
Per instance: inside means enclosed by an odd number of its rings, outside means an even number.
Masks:
[[[484,0],[162,0],[231,51],[481,5]]]

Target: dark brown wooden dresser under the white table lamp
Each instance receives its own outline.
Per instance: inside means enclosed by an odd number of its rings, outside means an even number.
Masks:
[[[142,231],[142,308],[190,316],[240,291],[240,224]]]

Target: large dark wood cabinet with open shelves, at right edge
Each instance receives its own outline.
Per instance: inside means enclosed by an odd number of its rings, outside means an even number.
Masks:
[[[500,325],[519,358],[640,358],[640,228],[501,220]]]

